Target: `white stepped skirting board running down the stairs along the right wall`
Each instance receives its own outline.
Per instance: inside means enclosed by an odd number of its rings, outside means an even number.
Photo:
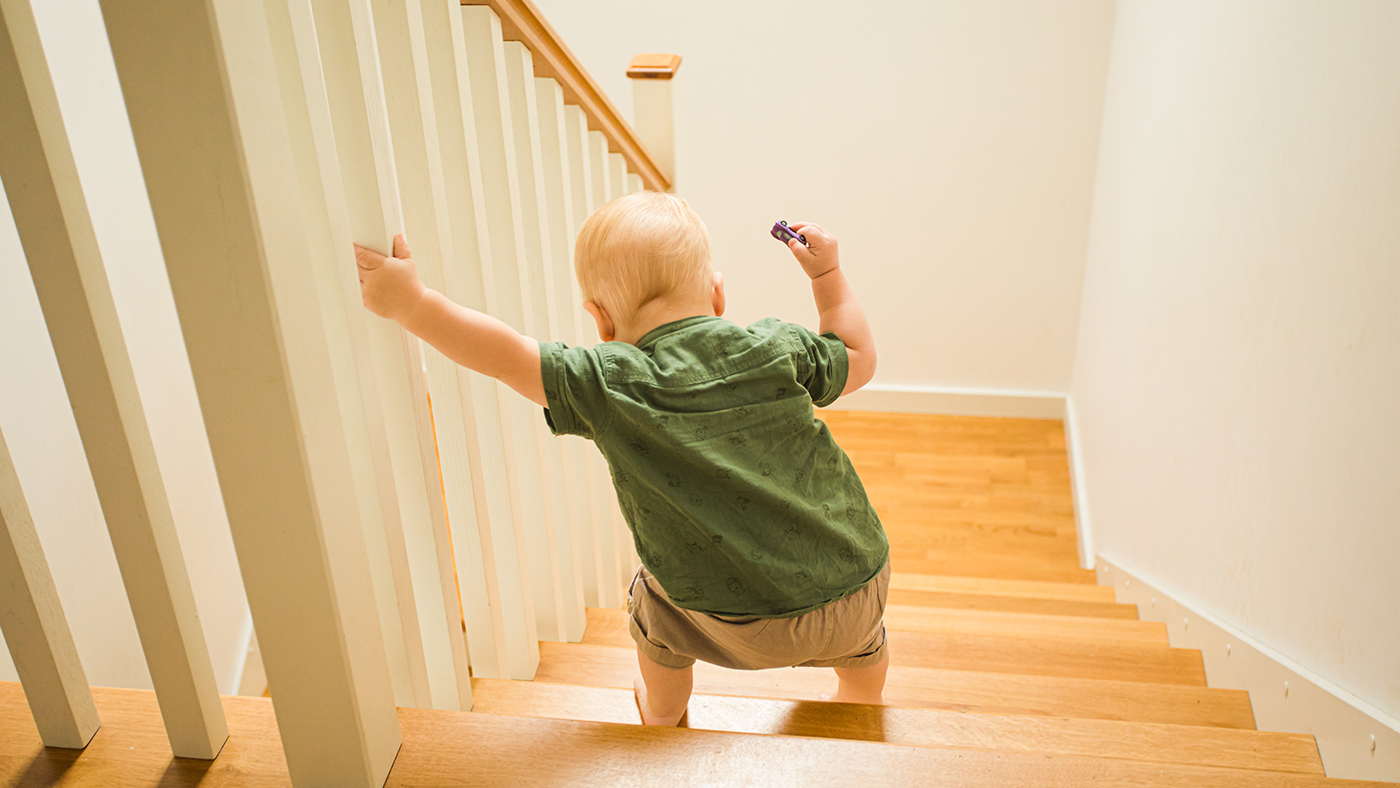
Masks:
[[[1173,647],[1201,651],[1210,686],[1247,690],[1260,731],[1312,733],[1327,777],[1400,781],[1400,719],[1173,599],[1120,561],[1100,554],[1095,568],[1120,603],[1137,605],[1145,621],[1163,621]]]

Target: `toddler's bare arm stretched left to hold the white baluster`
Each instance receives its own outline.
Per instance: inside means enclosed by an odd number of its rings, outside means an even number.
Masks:
[[[424,287],[402,235],[393,238],[392,258],[360,245],[354,251],[360,295],[371,312],[395,321],[462,367],[490,375],[545,406],[538,342]]]

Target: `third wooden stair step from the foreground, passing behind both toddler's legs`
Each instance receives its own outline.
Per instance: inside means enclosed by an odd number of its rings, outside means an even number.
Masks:
[[[627,689],[637,676],[636,649],[539,644],[538,682]],[[836,689],[836,676],[818,668],[728,670],[700,662],[694,687],[707,694],[813,700]],[[892,666],[885,700],[909,708],[1254,728],[1249,693],[1177,684]]]

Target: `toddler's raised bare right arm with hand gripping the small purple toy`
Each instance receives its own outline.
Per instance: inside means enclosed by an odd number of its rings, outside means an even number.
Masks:
[[[832,332],[846,346],[850,364],[846,389],[841,391],[841,396],[846,396],[875,377],[875,336],[871,335],[865,311],[855,301],[855,291],[841,273],[836,237],[815,224],[797,223],[791,228],[806,237],[806,246],[792,239],[788,241],[788,249],[812,279],[812,297],[816,300],[820,333]]]

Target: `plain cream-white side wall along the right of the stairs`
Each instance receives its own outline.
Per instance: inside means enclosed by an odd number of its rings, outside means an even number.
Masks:
[[[1071,397],[1103,556],[1400,717],[1400,4],[1119,3]]]

